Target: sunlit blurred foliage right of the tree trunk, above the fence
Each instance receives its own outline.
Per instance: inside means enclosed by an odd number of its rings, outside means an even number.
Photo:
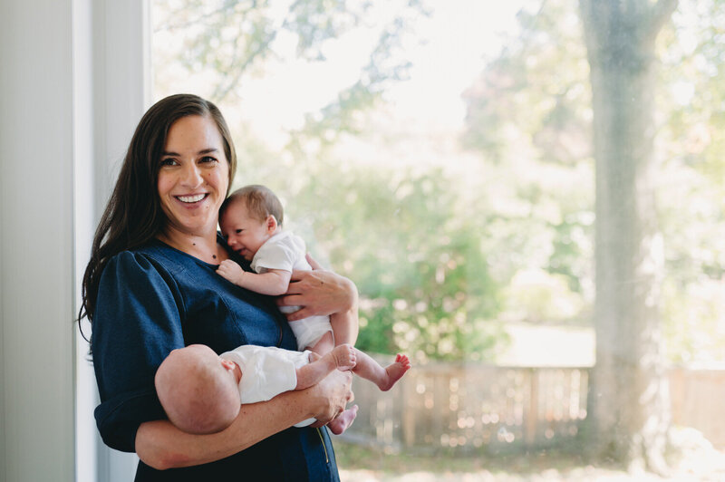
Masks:
[[[682,0],[658,45],[662,280],[667,352],[722,361],[725,320],[725,4]]]

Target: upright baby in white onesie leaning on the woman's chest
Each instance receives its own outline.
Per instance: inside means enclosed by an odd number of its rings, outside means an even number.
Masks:
[[[312,267],[305,259],[304,241],[282,230],[283,217],[282,203],[269,188],[253,185],[233,192],[219,210],[219,226],[229,247],[250,261],[255,273],[244,271],[231,260],[223,261],[217,273],[256,293],[285,294],[292,271]],[[327,316],[304,318],[290,322],[290,326],[299,350],[324,355],[335,348],[334,330]],[[411,368],[405,355],[398,354],[395,362],[383,368],[366,353],[353,350],[353,373],[381,390],[390,390]]]

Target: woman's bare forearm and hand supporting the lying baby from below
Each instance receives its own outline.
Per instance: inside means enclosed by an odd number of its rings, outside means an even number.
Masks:
[[[231,426],[211,435],[191,435],[168,420],[142,423],[136,432],[136,452],[144,463],[160,470],[190,467],[227,458],[304,419],[324,425],[353,400],[349,371],[333,371],[306,390],[286,391],[274,399],[242,405]]]

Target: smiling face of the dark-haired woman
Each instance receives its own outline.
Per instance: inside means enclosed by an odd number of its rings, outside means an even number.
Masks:
[[[171,124],[158,182],[166,229],[190,236],[216,233],[228,184],[224,140],[214,120],[192,115]]]

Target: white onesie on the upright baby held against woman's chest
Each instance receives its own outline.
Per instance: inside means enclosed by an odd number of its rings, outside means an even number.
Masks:
[[[281,269],[290,273],[295,269],[309,271],[312,266],[304,258],[305,251],[304,241],[300,236],[282,231],[267,239],[256,251],[251,267],[256,273],[265,273],[270,269]],[[298,309],[299,306],[280,307],[283,313],[292,313]],[[295,333],[298,350],[314,346],[324,333],[333,331],[329,316],[309,316],[290,322],[289,325]]]

